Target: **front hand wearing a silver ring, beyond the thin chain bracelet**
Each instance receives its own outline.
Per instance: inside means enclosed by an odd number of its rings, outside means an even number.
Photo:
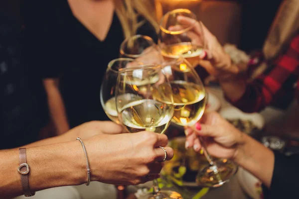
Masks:
[[[99,135],[84,141],[90,161],[91,180],[114,185],[137,185],[158,178],[164,151],[173,150],[167,136],[153,132]]]

